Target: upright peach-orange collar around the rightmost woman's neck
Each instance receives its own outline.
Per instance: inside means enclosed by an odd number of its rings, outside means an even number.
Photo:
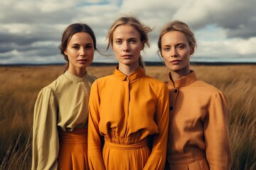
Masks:
[[[168,86],[171,86],[172,88],[180,88],[183,86],[188,86],[190,84],[193,84],[197,80],[196,73],[191,70],[191,73],[188,74],[186,77],[183,77],[181,79],[178,79],[176,81],[173,81],[171,79],[171,73],[168,74]]]

